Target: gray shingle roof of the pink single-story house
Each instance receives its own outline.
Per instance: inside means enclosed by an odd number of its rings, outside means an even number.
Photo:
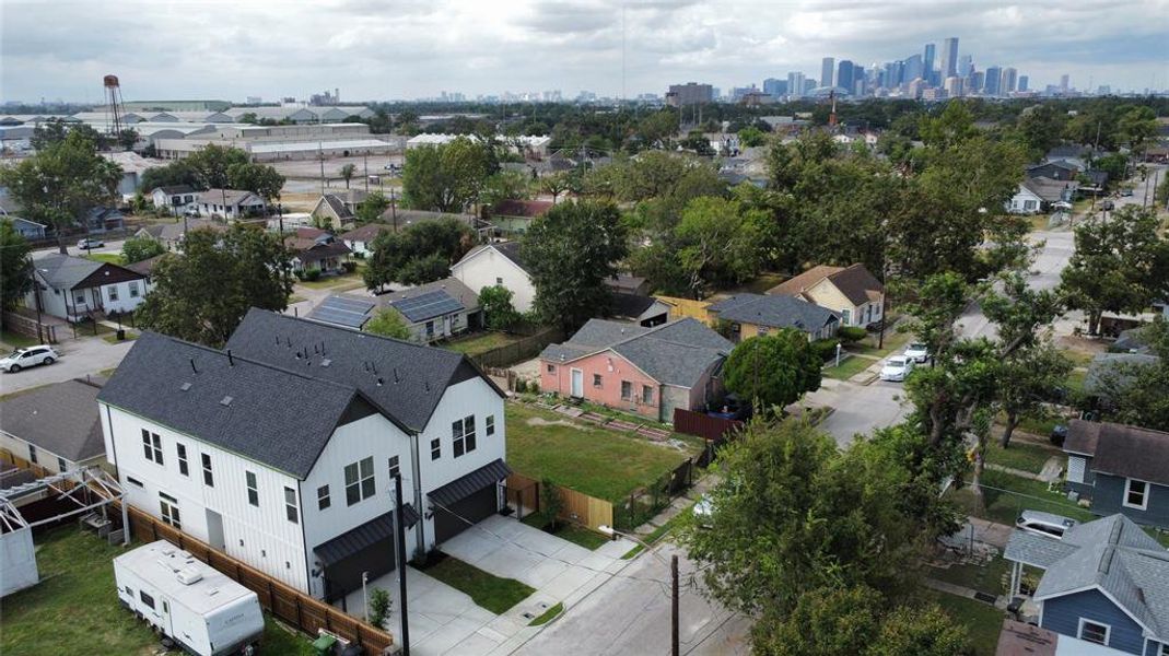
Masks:
[[[652,329],[589,319],[568,341],[548,345],[540,358],[568,362],[611,348],[658,382],[693,387],[712,366],[720,365],[733,347],[722,336],[692,318]]]

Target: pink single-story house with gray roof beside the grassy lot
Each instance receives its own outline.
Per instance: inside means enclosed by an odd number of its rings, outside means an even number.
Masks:
[[[734,346],[697,319],[656,327],[590,319],[540,353],[540,389],[672,422],[722,394]]]

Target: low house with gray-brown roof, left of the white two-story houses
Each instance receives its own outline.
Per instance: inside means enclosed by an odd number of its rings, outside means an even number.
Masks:
[[[74,379],[0,401],[0,446],[60,472],[105,464],[97,382]]]

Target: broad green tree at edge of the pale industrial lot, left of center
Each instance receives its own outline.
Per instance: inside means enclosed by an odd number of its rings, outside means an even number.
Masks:
[[[459,137],[440,146],[406,151],[402,202],[415,209],[463,212],[478,202],[483,185],[494,171],[490,146]]]

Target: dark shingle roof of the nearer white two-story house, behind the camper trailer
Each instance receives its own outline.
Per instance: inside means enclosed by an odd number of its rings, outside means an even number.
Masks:
[[[351,408],[375,412],[352,385],[311,378],[323,367],[304,362],[286,362],[300,365],[295,373],[144,332],[97,398],[304,478]]]

